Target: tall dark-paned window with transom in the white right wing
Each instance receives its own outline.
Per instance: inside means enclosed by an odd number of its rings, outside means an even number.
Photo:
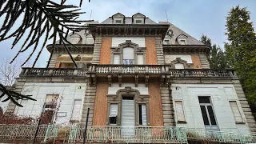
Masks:
[[[210,97],[198,97],[198,101],[200,104],[202,119],[206,126],[206,130],[218,130],[213,106],[210,102]]]

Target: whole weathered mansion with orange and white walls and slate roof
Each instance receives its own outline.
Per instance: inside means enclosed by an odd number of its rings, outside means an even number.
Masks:
[[[62,42],[48,45],[49,68],[23,67],[13,86],[37,101],[6,103],[5,113],[47,111],[49,122],[84,126],[90,108],[88,126],[256,133],[235,71],[210,69],[210,47],[190,34],[140,13],[117,13],[86,26],[67,38],[78,47],[66,44],[78,67]]]

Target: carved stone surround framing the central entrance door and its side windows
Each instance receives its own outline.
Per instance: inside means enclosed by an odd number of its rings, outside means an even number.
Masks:
[[[146,104],[146,122],[150,126],[150,110],[149,110],[149,97],[150,95],[140,94],[138,90],[132,89],[130,86],[126,86],[125,89],[120,89],[116,94],[108,94],[108,109],[106,115],[106,125],[109,125],[109,115],[110,115],[110,104],[118,104],[118,118],[117,126],[121,126],[122,117],[122,96],[134,97],[135,102],[135,126],[139,126],[138,122],[138,105]]]

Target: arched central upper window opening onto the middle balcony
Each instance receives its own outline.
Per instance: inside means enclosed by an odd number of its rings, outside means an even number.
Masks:
[[[134,48],[125,47],[122,49],[122,64],[134,65]]]

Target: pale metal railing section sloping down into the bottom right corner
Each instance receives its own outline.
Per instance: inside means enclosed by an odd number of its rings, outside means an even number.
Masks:
[[[256,143],[256,135],[254,134],[235,134],[216,130],[188,129],[186,135],[190,140],[201,140],[204,142]]]

